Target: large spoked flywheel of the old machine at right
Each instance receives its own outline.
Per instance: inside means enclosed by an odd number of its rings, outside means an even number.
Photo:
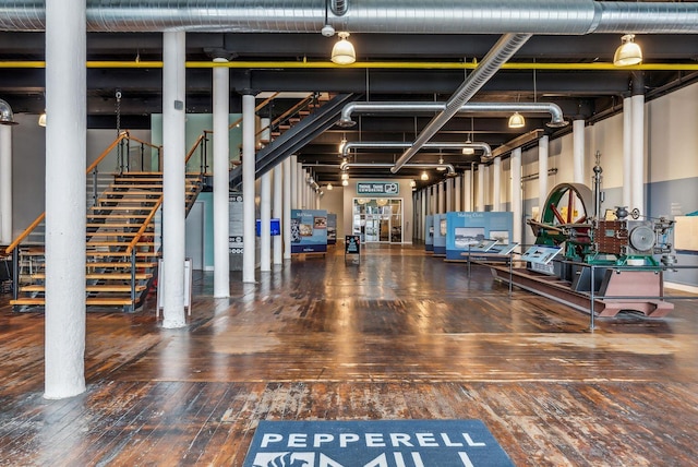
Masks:
[[[535,243],[566,243],[568,259],[583,259],[591,247],[592,197],[591,190],[581,183],[561,183],[553,188],[540,208],[540,220],[529,221]]]

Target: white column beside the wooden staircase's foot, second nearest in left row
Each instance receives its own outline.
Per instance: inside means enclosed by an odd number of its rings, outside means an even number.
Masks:
[[[182,327],[184,315],[185,38],[163,34],[163,327]]]

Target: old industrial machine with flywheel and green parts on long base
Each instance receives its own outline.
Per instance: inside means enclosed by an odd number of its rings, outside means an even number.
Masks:
[[[663,272],[676,263],[670,243],[674,221],[642,217],[624,206],[601,215],[600,154],[597,153],[593,192],[580,183],[553,188],[541,206],[540,220],[529,220],[535,244],[558,247],[561,260],[528,262],[526,270],[493,267],[500,279],[589,311],[590,295],[600,316],[622,310],[664,316],[673,304],[662,299]]]

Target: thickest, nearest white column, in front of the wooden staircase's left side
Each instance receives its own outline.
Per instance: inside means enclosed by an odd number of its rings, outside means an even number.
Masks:
[[[85,1],[46,2],[47,399],[85,391]]]

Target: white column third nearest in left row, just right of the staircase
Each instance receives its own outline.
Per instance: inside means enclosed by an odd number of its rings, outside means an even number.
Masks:
[[[216,63],[227,63],[224,58]],[[214,297],[230,297],[230,148],[228,115],[230,113],[230,70],[214,67]]]

